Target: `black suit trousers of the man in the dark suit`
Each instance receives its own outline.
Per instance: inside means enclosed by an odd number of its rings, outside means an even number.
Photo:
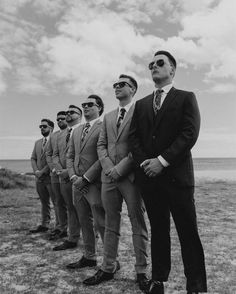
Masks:
[[[167,281],[171,268],[170,213],[181,245],[187,290],[206,292],[203,247],[197,228],[194,187],[159,177],[146,182],[142,196],[151,225],[152,278]]]

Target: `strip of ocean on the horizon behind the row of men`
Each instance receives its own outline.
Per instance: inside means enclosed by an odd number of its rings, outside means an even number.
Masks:
[[[196,178],[236,180],[236,158],[194,158]],[[32,172],[30,160],[0,160],[0,168],[19,173]]]

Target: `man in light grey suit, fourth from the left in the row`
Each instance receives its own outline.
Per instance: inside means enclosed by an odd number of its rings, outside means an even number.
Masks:
[[[104,238],[105,211],[101,200],[101,164],[97,155],[97,141],[102,122],[102,99],[90,95],[82,103],[86,123],[74,130],[67,152],[67,169],[72,181],[76,207],[84,243],[84,254],[79,261],[67,265],[69,269],[93,267],[96,260],[95,231]]]

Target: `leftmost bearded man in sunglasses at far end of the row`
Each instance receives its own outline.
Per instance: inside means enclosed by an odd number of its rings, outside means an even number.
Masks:
[[[50,222],[50,198],[53,193],[50,179],[50,169],[46,161],[46,145],[50,133],[53,131],[54,123],[49,119],[42,119],[39,125],[43,138],[37,140],[31,155],[31,165],[36,179],[36,190],[41,201],[41,225],[30,233],[43,233],[48,231]],[[54,206],[55,207],[55,206]]]

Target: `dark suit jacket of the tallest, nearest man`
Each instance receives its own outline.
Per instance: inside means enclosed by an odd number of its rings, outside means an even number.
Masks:
[[[161,155],[170,166],[163,176],[180,186],[193,186],[191,148],[200,129],[200,113],[194,93],[171,88],[155,116],[153,94],[136,102],[129,144],[136,162],[137,182],[145,180],[141,162]],[[147,177],[146,177],[147,180]]]

